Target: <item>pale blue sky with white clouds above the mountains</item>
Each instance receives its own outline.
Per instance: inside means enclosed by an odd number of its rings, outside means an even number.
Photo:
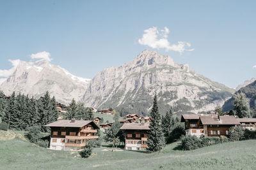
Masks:
[[[0,79],[18,59],[42,58],[93,78],[150,49],[235,88],[256,76],[255,9],[256,1],[0,0]]]

